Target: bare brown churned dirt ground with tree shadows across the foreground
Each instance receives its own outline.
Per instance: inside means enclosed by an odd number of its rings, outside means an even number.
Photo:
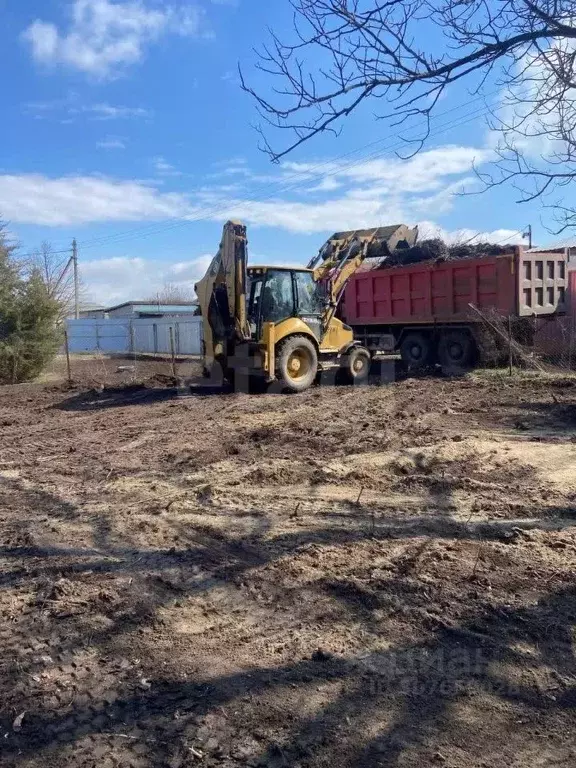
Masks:
[[[0,388],[2,766],[576,765],[575,379],[152,383]]]

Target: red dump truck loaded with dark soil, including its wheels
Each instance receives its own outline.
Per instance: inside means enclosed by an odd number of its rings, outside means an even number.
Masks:
[[[565,249],[519,246],[499,256],[367,268],[350,279],[342,314],[365,346],[400,352],[412,370],[469,368],[486,335],[502,346],[508,318],[525,341],[529,318],[565,313],[567,279]]]

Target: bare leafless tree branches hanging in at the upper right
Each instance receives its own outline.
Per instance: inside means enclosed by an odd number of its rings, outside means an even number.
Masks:
[[[479,173],[487,186],[511,182],[521,201],[548,200],[576,180],[576,0],[287,2],[292,38],[271,32],[258,52],[273,95],[242,77],[264,120],[291,133],[277,149],[262,131],[273,160],[337,131],[370,100],[385,103],[378,116],[396,125],[422,119],[416,152],[442,95],[464,81],[476,97],[500,94],[488,117],[500,135],[497,162]],[[570,203],[554,206],[559,230],[576,226]]]

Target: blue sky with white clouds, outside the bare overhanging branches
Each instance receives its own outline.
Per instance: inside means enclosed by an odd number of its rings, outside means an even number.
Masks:
[[[454,90],[426,149],[402,161],[398,128],[366,107],[272,165],[258,148],[252,48],[288,30],[287,0],[0,0],[0,214],[26,251],[79,242],[97,302],[191,285],[222,224],[248,224],[253,261],[303,264],[336,229],[421,223],[428,232],[513,242],[545,211],[514,190],[481,196],[491,156],[483,105]],[[407,129],[405,134],[407,133]]]

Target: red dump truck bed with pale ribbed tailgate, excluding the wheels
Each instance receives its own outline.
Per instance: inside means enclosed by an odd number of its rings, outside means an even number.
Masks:
[[[354,275],[344,297],[351,325],[465,322],[470,305],[507,316],[566,311],[566,251],[428,261]],[[477,319],[477,318],[476,318]]]

